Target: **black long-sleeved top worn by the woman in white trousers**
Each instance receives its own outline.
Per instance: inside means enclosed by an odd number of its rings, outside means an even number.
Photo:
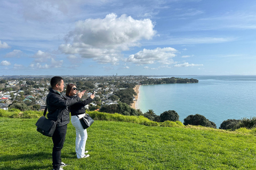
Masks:
[[[68,98],[74,98],[75,96],[67,96]],[[92,98],[89,97],[86,100],[80,100],[76,104],[70,106],[70,113],[71,116],[75,115],[81,115],[85,113],[85,105],[88,105],[89,103],[92,102]]]

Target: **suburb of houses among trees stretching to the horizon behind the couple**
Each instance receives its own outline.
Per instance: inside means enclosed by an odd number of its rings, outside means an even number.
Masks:
[[[93,90],[95,98],[91,103],[92,106],[117,104],[117,100],[113,101],[109,99],[113,95],[113,92],[125,89],[122,84],[139,84],[145,78],[143,76],[117,77],[116,75],[108,77],[63,77],[65,79],[65,86],[70,82],[75,83],[79,90],[86,89],[88,97]],[[86,84],[86,82],[90,82],[91,84]],[[20,103],[27,104],[33,102],[34,105],[39,105],[40,109],[44,109],[49,87],[49,76],[41,78],[0,77],[0,107],[1,109],[7,110],[8,106],[19,101]]]

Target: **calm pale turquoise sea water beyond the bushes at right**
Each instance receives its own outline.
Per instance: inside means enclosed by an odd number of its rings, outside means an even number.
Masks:
[[[140,86],[137,108],[156,115],[174,110],[183,123],[188,115],[204,115],[219,128],[228,119],[256,116],[256,75],[171,76],[198,83]]]

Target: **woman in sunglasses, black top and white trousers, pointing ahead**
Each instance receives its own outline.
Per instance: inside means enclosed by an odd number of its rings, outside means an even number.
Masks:
[[[66,96],[73,98],[77,94],[77,88],[75,84],[70,83],[67,86]],[[84,106],[87,104],[90,104],[92,102],[92,99],[94,98],[94,94],[92,94],[89,98],[86,100],[80,100],[76,104],[72,105],[70,107],[70,113],[71,113],[71,123],[76,128],[76,156],[77,158],[87,158],[90,155],[85,155],[88,153],[88,151],[85,151],[85,144],[87,140],[87,131],[83,128],[81,122],[79,121],[79,118],[82,118],[85,116],[85,108]]]

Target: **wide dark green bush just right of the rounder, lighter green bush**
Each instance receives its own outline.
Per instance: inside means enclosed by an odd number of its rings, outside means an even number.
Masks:
[[[214,122],[207,120],[203,115],[195,114],[184,118],[184,125],[201,125],[210,128],[217,128]]]

